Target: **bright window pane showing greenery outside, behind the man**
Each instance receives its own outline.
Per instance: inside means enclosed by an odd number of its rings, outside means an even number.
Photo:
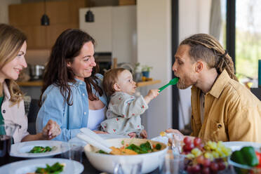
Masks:
[[[257,79],[261,59],[261,1],[236,1],[236,75]]]

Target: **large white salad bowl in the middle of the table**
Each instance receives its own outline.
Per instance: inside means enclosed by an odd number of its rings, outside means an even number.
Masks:
[[[113,173],[114,170],[114,163],[116,161],[131,161],[135,159],[142,159],[142,173],[149,173],[155,170],[159,166],[159,156],[163,156],[166,154],[168,147],[161,143],[152,140],[146,139],[131,139],[131,138],[116,138],[116,139],[109,139],[106,140],[110,142],[114,147],[122,147],[121,142],[124,141],[124,144],[134,144],[140,145],[149,141],[152,145],[156,145],[157,143],[161,144],[161,150],[158,152],[152,152],[148,154],[136,154],[136,155],[112,155],[112,154],[99,154],[95,153],[98,151],[97,148],[86,145],[84,147],[84,152],[90,161],[90,163],[102,172]]]

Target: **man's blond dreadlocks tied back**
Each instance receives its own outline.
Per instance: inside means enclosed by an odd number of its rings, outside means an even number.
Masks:
[[[190,46],[189,55],[194,61],[202,59],[208,64],[209,68],[215,68],[218,74],[226,69],[230,78],[238,81],[234,74],[232,58],[215,37],[208,34],[194,34],[182,41],[181,45]]]

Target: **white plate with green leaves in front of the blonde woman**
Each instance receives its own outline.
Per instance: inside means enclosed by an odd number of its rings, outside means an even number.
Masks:
[[[66,144],[67,142],[54,141],[54,140],[19,142],[11,146],[10,155],[16,157],[22,157],[22,158],[41,158],[47,156],[55,156],[56,154],[61,153],[60,145],[62,145],[62,143]],[[32,148],[34,148],[34,146],[41,146],[41,147],[48,146],[51,148],[54,147],[54,149],[52,149],[51,152],[44,152],[38,154],[28,153]]]

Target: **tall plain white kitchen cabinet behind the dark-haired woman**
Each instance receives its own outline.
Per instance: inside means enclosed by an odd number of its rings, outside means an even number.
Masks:
[[[91,10],[94,22],[85,22]],[[118,62],[137,62],[136,6],[80,8],[79,27],[96,41],[95,52],[111,52]]]

